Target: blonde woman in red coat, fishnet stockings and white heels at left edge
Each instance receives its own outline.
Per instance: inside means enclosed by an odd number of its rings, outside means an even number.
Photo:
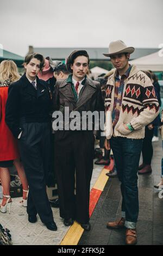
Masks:
[[[0,64],[0,178],[3,187],[3,200],[0,211],[9,212],[11,207],[10,197],[10,172],[9,167],[14,166],[20,176],[23,187],[22,205],[27,207],[27,193],[28,182],[22,162],[20,161],[20,154],[18,151],[17,141],[13,137],[7,124],[5,123],[5,106],[8,97],[8,89],[11,84],[20,78],[15,62],[13,60],[3,60]]]

